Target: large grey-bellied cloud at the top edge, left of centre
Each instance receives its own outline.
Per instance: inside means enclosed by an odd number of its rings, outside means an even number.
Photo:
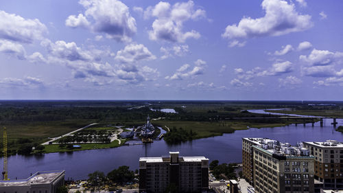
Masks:
[[[136,20],[128,6],[119,0],[80,0],[84,14],[71,15],[65,21],[69,27],[88,27],[93,32],[105,33],[116,41],[131,41],[136,34]]]

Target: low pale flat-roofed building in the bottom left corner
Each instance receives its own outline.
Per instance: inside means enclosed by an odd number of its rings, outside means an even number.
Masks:
[[[64,170],[36,172],[28,179],[0,181],[0,192],[3,193],[55,193],[64,185]]]

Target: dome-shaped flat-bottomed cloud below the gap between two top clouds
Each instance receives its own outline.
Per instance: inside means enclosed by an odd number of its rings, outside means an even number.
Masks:
[[[132,43],[117,52],[115,59],[121,63],[135,63],[140,60],[154,60],[154,56],[143,44]]]

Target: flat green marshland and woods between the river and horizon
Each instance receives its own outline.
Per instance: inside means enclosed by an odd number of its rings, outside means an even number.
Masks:
[[[276,115],[248,113],[246,109],[296,109],[277,111],[300,115],[343,117],[343,102],[336,106],[307,106],[302,102],[268,101],[0,101],[0,126],[8,130],[8,154],[29,150],[51,138],[70,133],[88,124],[99,123],[96,128],[85,130],[107,130],[108,124],[132,128],[145,123],[150,115],[152,124],[168,128],[183,128],[196,133],[188,139],[198,139],[233,133],[251,127],[279,127],[306,120],[281,120]],[[311,102],[313,103],[313,102]],[[174,109],[177,113],[163,113],[150,109]],[[248,118],[236,120],[235,118]],[[261,117],[263,119],[249,119]],[[268,119],[272,117],[272,119]],[[167,127],[166,127],[167,126]],[[2,132],[0,137],[2,138]],[[118,143],[118,144],[116,144]],[[121,143],[120,145],[122,145]],[[84,144],[81,149],[112,148],[119,146],[116,139],[110,144]],[[1,139],[0,148],[3,143]],[[58,145],[46,146],[41,152],[58,150]],[[0,151],[0,156],[2,151]]]

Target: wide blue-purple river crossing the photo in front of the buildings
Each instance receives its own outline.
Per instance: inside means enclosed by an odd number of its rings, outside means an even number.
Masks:
[[[241,162],[242,137],[269,137],[295,144],[298,141],[324,141],[335,139],[343,141],[343,135],[336,132],[331,125],[332,120],[324,119],[324,126],[316,122],[311,124],[294,124],[280,128],[250,128],[237,130],[235,133],[218,137],[197,139],[191,142],[169,146],[165,141],[154,141],[152,144],[137,146],[121,146],[103,150],[85,150],[73,153],[51,153],[42,156],[11,156],[8,158],[10,179],[29,177],[38,170],[66,170],[66,179],[87,179],[87,174],[99,170],[105,173],[126,165],[131,169],[139,167],[139,157],[156,157],[168,155],[168,152],[180,151],[185,156],[205,156],[220,162]],[[343,120],[337,120],[343,125]],[[0,159],[2,163],[2,159]],[[2,167],[2,166],[1,166]]]

